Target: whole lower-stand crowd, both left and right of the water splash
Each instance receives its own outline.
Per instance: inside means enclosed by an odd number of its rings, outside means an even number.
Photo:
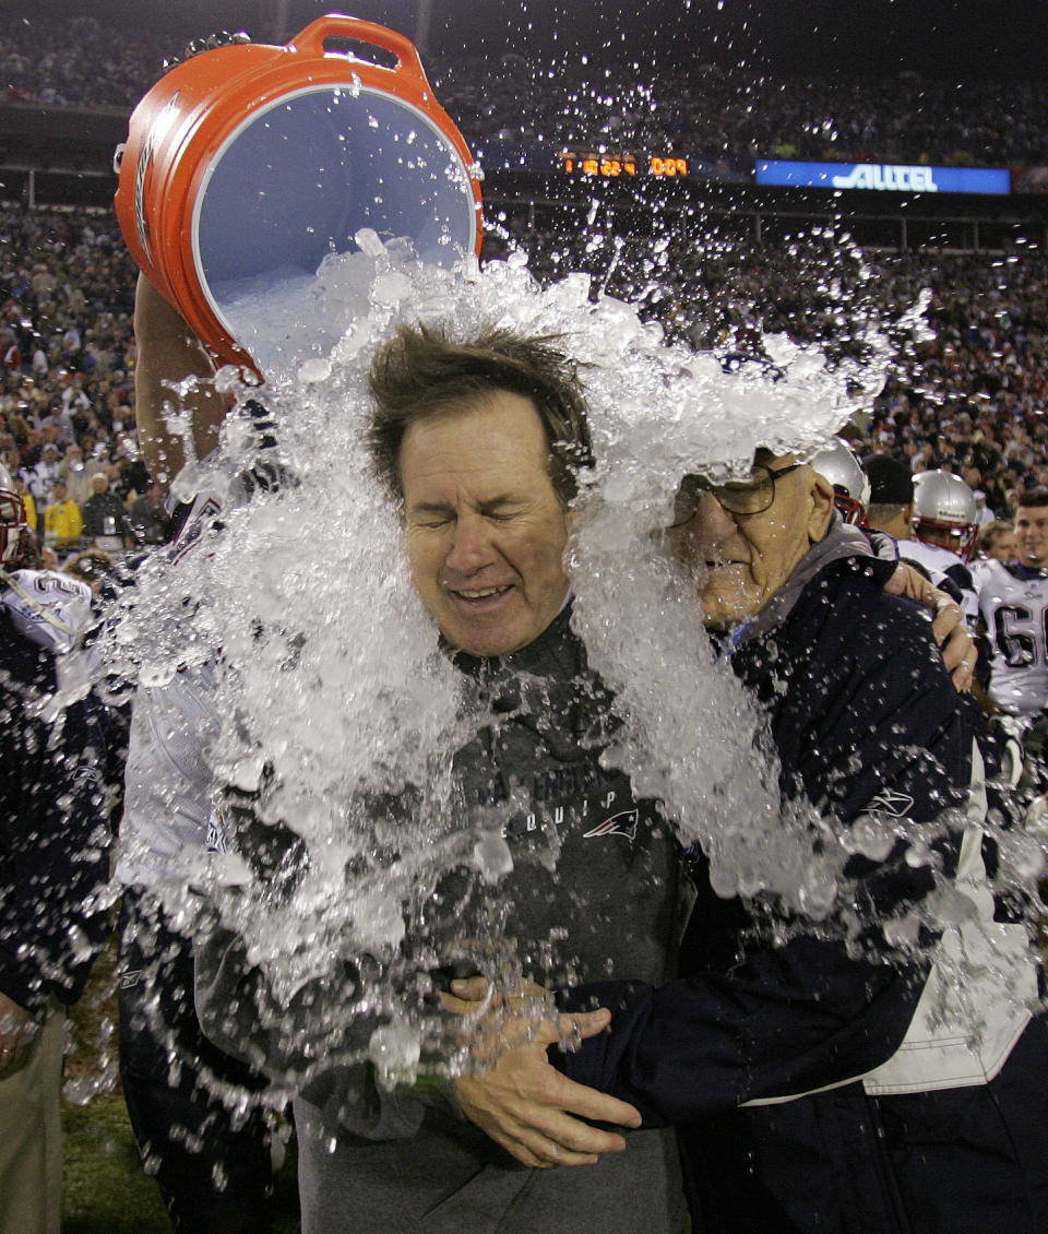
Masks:
[[[1048,259],[1034,248],[862,258],[831,254],[817,236],[800,249],[747,251],[678,236],[656,258],[650,242],[620,239],[607,268],[607,244],[552,233],[522,243],[540,279],[588,269],[614,295],[646,296],[667,332],[698,348],[759,353],[768,332],[833,355],[880,322],[896,354],[872,400],[870,449],[962,475],[1000,517],[1048,481]],[[51,505],[72,502],[84,516],[96,474],[127,520],[101,524],[110,547],[162,534],[134,438],[133,286],[111,213],[0,211],[0,457],[42,534]],[[903,327],[925,289],[926,325]],[[73,550],[104,534],[89,511],[75,533],[70,517],[55,510],[51,542]]]

